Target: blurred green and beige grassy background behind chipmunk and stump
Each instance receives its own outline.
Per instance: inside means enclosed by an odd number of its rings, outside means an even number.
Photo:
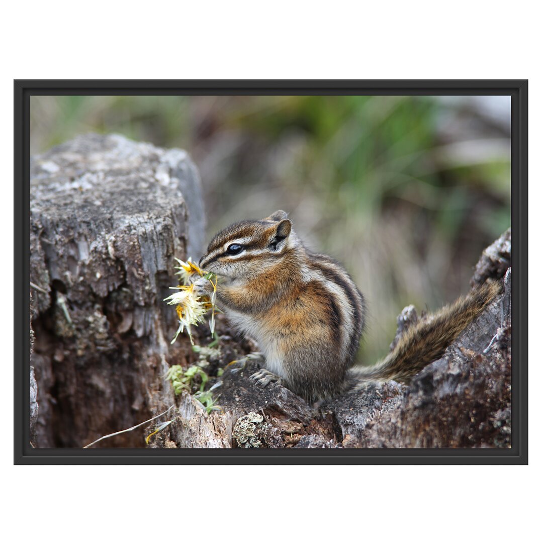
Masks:
[[[207,239],[288,211],[366,296],[365,363],[386,353],[405,305],[466,292],[510,225],[509,97],[35,96],[30,113],[33,154],[86,132],[189,151]]]

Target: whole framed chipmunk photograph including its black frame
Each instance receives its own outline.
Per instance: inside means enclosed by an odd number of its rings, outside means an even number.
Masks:
[[[15,451],[527,463],[527,81],[15,81]]]

